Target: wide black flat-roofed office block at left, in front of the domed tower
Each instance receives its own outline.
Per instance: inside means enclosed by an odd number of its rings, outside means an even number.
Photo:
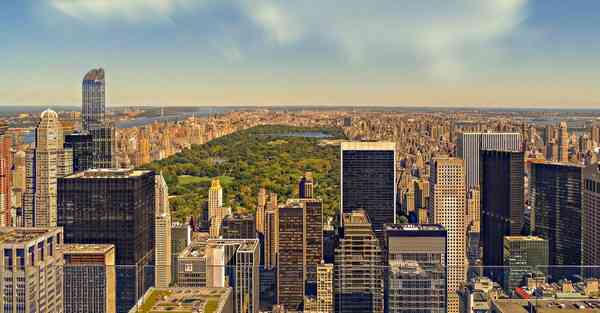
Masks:
[[[67,243],[114,244],[117,312],[154,284],[154,172],[96,169],[58,181],[58,224]],[[150,277],[148,277],[150,276]]]

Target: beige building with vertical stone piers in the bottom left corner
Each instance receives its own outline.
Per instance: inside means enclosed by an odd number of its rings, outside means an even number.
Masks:
[[[0,228],[2,312],[63,312],[60,228]]]

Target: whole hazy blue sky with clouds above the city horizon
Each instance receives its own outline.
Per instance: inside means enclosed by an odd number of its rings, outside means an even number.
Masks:
[[[23,0],[0,104],[600,107],[600,1]]]

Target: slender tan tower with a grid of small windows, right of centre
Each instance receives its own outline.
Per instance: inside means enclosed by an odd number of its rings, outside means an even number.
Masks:
[[[466,281],[466,186],[464,162],[457,158],[436,158],[429,177],[429,216],[447,233],[447,308],[458,313],[458,290]]]

